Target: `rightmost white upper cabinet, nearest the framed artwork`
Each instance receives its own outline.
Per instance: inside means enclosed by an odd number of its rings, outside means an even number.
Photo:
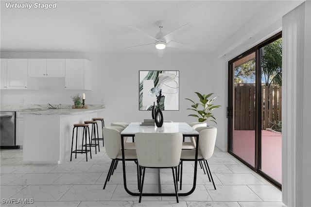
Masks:
[[[91,67],[86,59],[66,59],[65,88],[91,90]]]

